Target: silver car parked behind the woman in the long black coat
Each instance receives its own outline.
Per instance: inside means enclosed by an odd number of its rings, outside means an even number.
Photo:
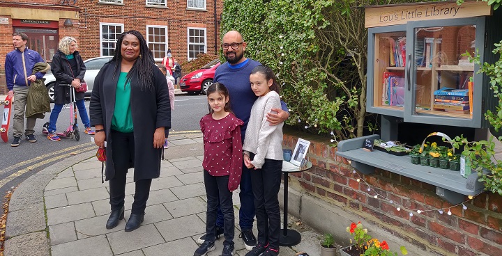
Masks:
[[[98,72],[101,69],[101,67],[111,59],[112,57],[106,56],[106,57],[89,58],[84,61],[84,64],[86,65],[86,74],[84,76],[84,81],[86,81],[87,83],[87,91],[85,93],[85,97],[91,97],[92,88],[94,85],[94,79],[98,75]],[[52,72],[47,72],[44,78],[45,78],[45,86],[47,86],[47,92],[49,93],[51,102],[54,102],[54,84],[56,82],[56,78],[54,77],[54,74],[52,74]],[[174,83],[174,78],[172,76],[169,77],[169,80],[171,80]]]

